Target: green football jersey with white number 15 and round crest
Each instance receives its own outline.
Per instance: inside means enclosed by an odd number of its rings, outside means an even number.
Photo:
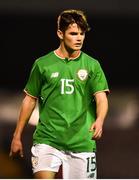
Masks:
[[[25,87],[39,101],[34,144],[72,152],[95,151],[89,129],[96,119],[93,94],[99,91],[109,91],[104,72],[84,52],[74,60],[62,59],[55,51],[37,59]]]

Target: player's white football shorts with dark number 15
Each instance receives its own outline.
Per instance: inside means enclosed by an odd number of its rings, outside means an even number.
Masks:
[[[32,169],[58,172],[62,165],[64,179],[96,179],[96,154],[94,152],[64,152],[46,144],[32,146]]]

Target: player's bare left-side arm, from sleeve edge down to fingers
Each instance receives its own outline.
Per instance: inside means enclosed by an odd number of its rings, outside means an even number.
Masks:
[[[25,98],[23,99],[21,110],[19,114],[19,119],[17,121],[17,125],[13,134],[13,139],[11,142],[11,150],[10,156],[20,155],[23,157],[23,146],[21,141],[21,136],[25,125],[27,124],[35,106],[36,106],[37,99],[31,97],[26,94]]]

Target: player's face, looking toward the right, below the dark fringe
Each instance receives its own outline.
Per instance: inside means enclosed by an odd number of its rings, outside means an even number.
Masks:
[[[70,51],[78,51],[83,46],[85,32],[77,26],[76,23],[69,25],[63,33],[63,43],[66,49]]]

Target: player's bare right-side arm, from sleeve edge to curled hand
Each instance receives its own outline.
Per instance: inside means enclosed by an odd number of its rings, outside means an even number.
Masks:
[[[95,94],[96,121],[92,124],[90,131],[93,131],[93,139],[100,139],[103,132],[103,124],[108,112],[108,99],[106,92]]]

